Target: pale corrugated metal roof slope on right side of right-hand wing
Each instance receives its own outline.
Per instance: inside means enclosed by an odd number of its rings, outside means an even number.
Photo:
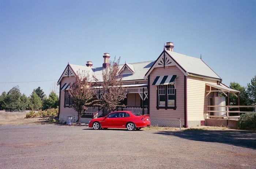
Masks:
[[[165,51],[188,73],[221,79],[203,60],[176,52]]]

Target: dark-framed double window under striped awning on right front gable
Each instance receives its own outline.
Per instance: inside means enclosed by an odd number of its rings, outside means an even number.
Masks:
[[[158,85],[157,109],[176,109],[176,89],[173,84]]]

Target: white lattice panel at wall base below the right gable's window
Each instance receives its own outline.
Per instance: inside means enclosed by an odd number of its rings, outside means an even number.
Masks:
[[[180,127],[180,122],[178,120],[160,120],[160,119],[150,119],[151,125],[159,127]],[[184,126],[184,121],[181,121],[181,127]]]

